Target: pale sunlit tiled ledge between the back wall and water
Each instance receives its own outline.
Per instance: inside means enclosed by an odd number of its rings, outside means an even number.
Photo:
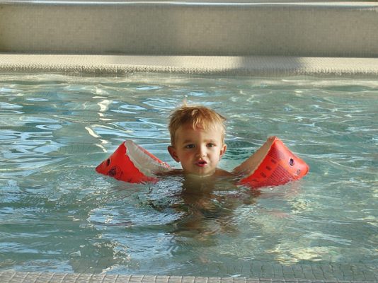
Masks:
[[[90,74],[158,72],[241,76],[378,76],[378,58],[0,53],[0,71],[83,72]]]

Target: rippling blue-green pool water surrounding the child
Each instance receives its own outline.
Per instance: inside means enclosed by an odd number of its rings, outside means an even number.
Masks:
[[[129,184],[125,139],[166,151],[183,100],[228,118],[231,170],[270,135],[309,174],[258,191]],[[0,270],[378,280],[378,81],[168,74],[0,76]]]

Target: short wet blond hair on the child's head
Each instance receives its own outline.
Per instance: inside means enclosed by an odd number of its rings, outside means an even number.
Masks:
[[[171,134],[171,144],[175,144],[176,132],[182,125],[191,125],[193,129],[219,127],[219,129],[222,130],[222,142],[224,142],[224,136],[226,134],[225,121],[225,117],[210,108],[184,104],[180,108],[173,110],[170,115],[168,129]]]

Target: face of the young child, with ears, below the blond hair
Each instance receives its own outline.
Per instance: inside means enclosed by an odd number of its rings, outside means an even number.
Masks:
[[[176,131],[175,146],[168,146],[168,151],[186,174],[205,176],[215,173],[226,148],[219,127],[193,129],[183,125]]]

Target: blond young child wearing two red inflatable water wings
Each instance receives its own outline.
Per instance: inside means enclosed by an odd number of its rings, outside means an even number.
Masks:
[[[171,170],[168,164],[127,140],[100,163],[96,171],[130,183],[151,182],[159,176],[183,174],[185,181],[200,178],[200,182],[194,183],[206,185],[220,176],[252,188],[283,185],[299,180],[309,171],[309,166],[277,137],[269,137],[232,173],[217,168],[227,149],[224,121],[224,117],[204,106],[183,105],[172,113],[168,126],[171,134],[168,152],[181,163],[182,170]]]

